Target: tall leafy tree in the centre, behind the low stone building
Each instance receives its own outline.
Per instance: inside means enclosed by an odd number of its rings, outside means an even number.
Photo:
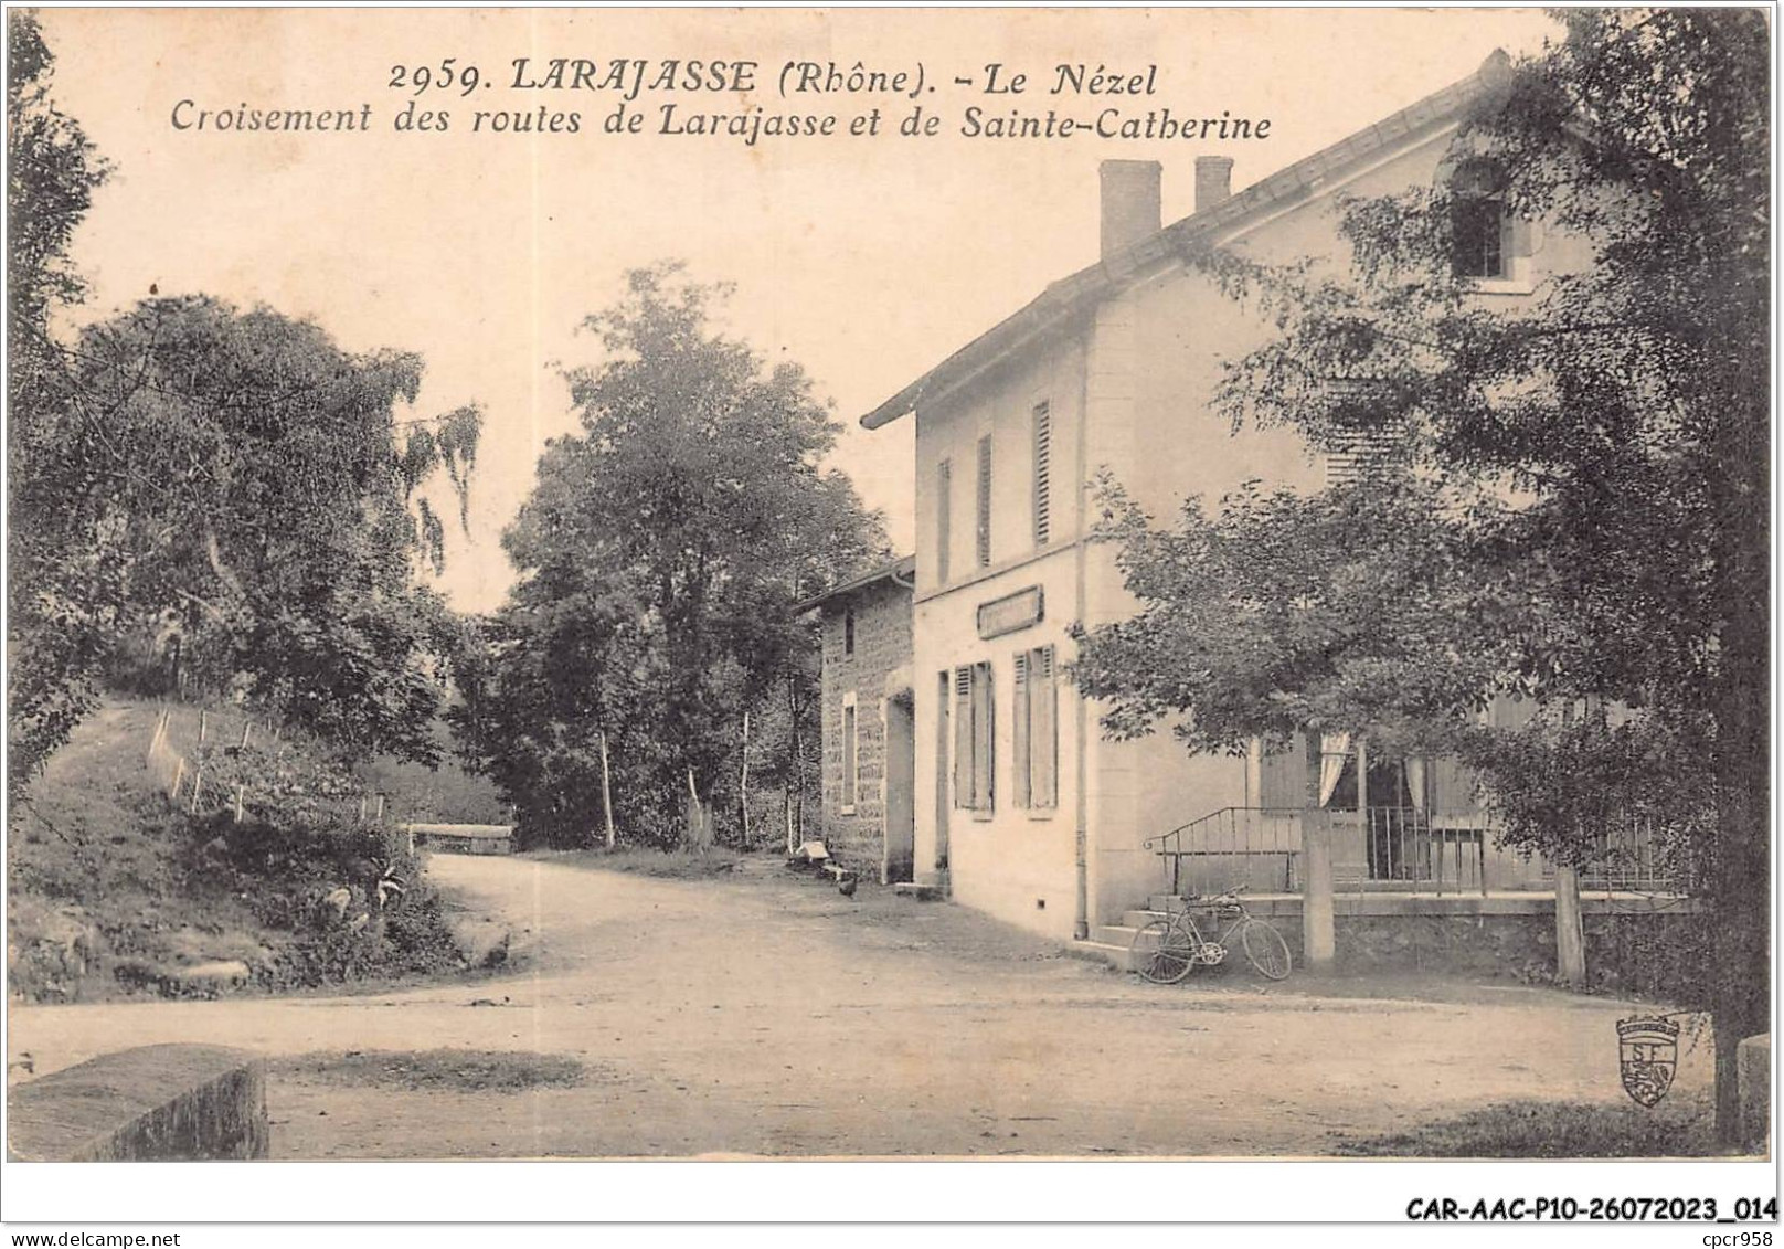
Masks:
[[[673,840],[690,798],[740,810],[744,714],[812,680],[792,603],[883,553],[821,467],[837,425],[810,378],[714,330],[724,294],[637,269],[587,319],[607,359],[567,373],[583,432],[503,539],[519,585],[460,683],[482,682],[466,733],[535,840],[591,839],[601,733],[628,837]]]

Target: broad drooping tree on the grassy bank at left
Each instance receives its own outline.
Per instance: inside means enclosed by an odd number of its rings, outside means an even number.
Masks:
[[[467,484],[475,407],[398,428],[421,360],[350,355],[268,309],[152,298],[61,359],[61,412],[12,450],[14,778],[66,739],[127,642],[350,751],[432,758],[451,641],[416,587]]]

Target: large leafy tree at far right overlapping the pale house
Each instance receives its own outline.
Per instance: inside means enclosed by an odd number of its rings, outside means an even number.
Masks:
[[[1083,683],[1115,732],[1188,712],[1204,748],[1331,726],[1456,749],[1509,840],[1563,862],[1607,814],[1656,821],[1714,906],[1729,1138],[1734,1044],[1770,1017],[1768,30],[1559,20],[1463,125],[1468,178],[1345,207],[1350,273],[1206,257],[1276,327],[1220,409],[1363,437],[1386,471],[1192,505],[1167,534],[1111,496],[1142,614],[1086,639]],[[1586,262],[1474,298],[1450,248],[1483,193]],[[1481,730],[1495,694],[1541,710]]]

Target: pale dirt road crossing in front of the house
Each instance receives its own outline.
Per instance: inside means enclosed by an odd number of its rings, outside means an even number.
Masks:
[[[1161,988],[958,906],[776,873],[451,856],[434,873],[524,930],[526,972],[371,997],[16,1006],[9,1060],[29,1051],[43,1074],[120,1044],[262,1051],[285,1158],[1322,1154],[1334,1133],[1488,1101],[1623,1097],[1627,1005],[1606,999],[1263,988],[1240,971]],[[435,1047],[566,1056],[583,1076],[417,1092],[289,1060]],[[1677,1087],[1707,1078],[1693,1053]]]

